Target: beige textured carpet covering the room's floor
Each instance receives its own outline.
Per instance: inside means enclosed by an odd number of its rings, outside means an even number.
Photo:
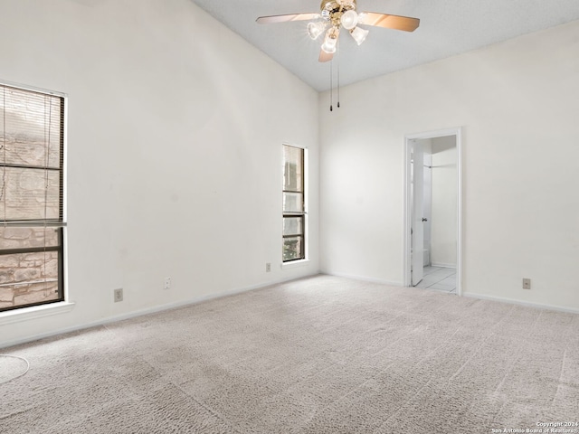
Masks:
[[[0,385],[10,434],[491,433],[579,421],[579,316],[327,276],[0,353],[30,362]]]

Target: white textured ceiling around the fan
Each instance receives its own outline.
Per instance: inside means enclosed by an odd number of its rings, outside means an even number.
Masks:
[[[329,62],[318,62],[321,41],[308,38],[308,22],[255,22],[261,15],[319,12],[319,0],[192,1],[312,88],[329,89]],[[579,0],[357,0],[357,11],[413,16],[421,24],[413,33],[366,27],[361,46],[342,34],[342,85],[577,20]]]

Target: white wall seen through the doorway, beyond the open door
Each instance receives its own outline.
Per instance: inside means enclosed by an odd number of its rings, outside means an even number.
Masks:
[[[456,267],[457,252],[457,148],[456,137],[432,138],[432,240],[433,266]]]

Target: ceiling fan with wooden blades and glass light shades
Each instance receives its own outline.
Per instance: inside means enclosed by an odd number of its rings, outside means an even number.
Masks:
[[[326,31],[326,36],[319,52],[319,61],[332,60],[337,50],[337,38],[342,28],[350,33],[357,44],[360,45],[365,41],[368,31],[358,27],[359,24],[403,30],[404,32],[413,32],[420,24],[418,18],[410,16],[377,14],[375,12],[361,12],[358,14],[356,13],[356,0],[322,0],[319,14],[260,16],[257,22],[269,24],[307,20],[319,20],[308,24],[308,34],[311,39],[318,39],[318,36]]]

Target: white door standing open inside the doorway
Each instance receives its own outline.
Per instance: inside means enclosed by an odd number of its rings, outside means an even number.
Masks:
[[[420,140],[413,140],[413,219],[412,219],[412,277],[418,285],[424,273],[423,216],[424,152]]]

